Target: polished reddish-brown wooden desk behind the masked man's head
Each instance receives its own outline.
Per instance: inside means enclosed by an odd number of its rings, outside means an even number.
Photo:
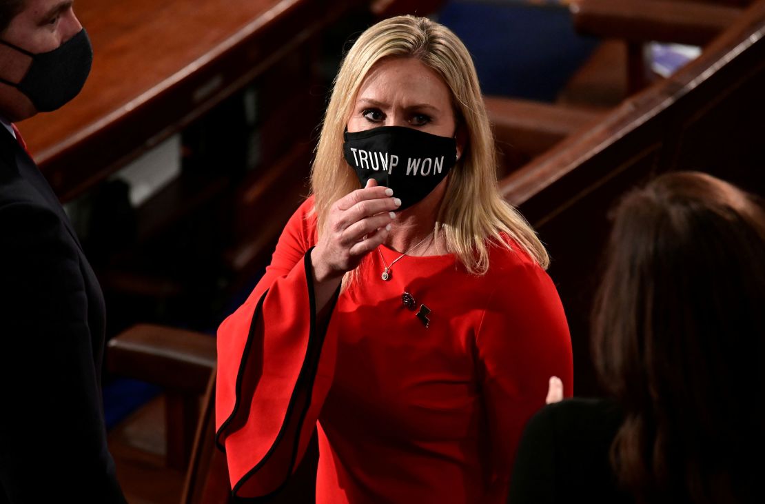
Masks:
[[[67,200],[241,89],[356,3],[78,0],[95,54],[90,79],[67,106],[22,122],[21,132]]]

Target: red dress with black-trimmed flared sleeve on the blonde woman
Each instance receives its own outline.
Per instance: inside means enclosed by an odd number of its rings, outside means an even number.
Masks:
[[[292,216],[265,276],[218,330],[216,440],[234,493],[278,489],[318,428],[319,504],[504,502],[549,377],[571,395],[571,340],[549,276],[493,246],[486,275],[455,255],[407,256],[382,281],[373,252],[325,330],[307,253],[312,206]],[[388,264],[400,255],[380,251]]]

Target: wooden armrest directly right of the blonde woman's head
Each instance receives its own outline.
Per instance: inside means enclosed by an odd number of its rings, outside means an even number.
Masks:
[[[500,145],[535,156],[603,117],[599,109],[484,96],[494,137]]]

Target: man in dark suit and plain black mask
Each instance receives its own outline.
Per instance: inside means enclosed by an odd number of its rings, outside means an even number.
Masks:
[[[125,502],[106,445],[103,294],[12,122],[80,92],[71,0],[0,0],[0,504]]]

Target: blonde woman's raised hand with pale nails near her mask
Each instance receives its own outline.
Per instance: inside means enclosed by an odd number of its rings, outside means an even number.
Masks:
[[[337,200],[330,208],[324,232],[311,252],[314,278],[319,281],[340,279],[359,265],[388,237],[392,210],[401,206],[388,187],[369,179],[366,187]]]

